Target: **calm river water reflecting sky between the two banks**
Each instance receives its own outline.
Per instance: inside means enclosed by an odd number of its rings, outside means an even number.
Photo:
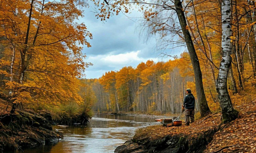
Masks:
[[[63,139],[52,145],[41,145],[24,151],[25,153],[113,153],[116,147],[131,139],[138,128],[149,126],[150,120],[151,118],[147,117],[97,114],[87,127],[55,126],[55,129],[63,132]],[[21,153],[21,151],[17,152]]]

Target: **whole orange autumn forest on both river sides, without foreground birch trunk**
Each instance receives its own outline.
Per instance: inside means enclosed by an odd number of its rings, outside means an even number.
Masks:
[[[87,39],[92,39],[92,34],[84,23],[73,20],[83,16],[76,5],[85,7],[86,2],[67,2],[69,5],[65,6],[45,1],[35,2],[34,6],[33,3],[17,1],[1,5],[1,97],[8,101],[7,105],[55,111],[65,104],[83,105],[90,113],[91,109],[179,113],[185,89],[191,88],[197,112],[220,109],[217,91],[223,57],[220,1],[183,2],[187,5],[182,19],[175,16],[177,11],[171,5],[174,1],[161,5],[138,1],[135,7],[144,14],[140,22],[142,31],[147,32],[147,37],[159,36],[157,49],[161,56],[170,56],[172,60],[157,63],[148,60],[137,67],[106,72],[98,79],[81,79],[86,74],[85,68],[92,66],[85,62],[81,45],[90,47]],[[104,2],[94,3],[99,7],[96,17],[102,21],[118,15],[122,9],[129,14],[134,7],[126,1],[116,1],[112,7]],[[231,4],[234,4],[230,5],[232,33],[228,41],[232,60],[225,71],[231,100],[241,102],[252,98],[255,87],[255,4],[247,0],[233,0]],[[4,11],[13,8],[16,13]],[[20,14],[19,9],[26,10],[28,16]],[[55,16],[56,11],[62,15]],[[179,56],[167,53],[187,44],[193,47]],[[201,107],[205,104],[205,108]]]

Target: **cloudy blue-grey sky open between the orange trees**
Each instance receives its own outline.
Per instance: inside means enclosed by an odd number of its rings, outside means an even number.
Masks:
[[[133,11],[131,14],[119,14],[110,17],[106,22],[97,19],[94,8],[86,8],[84,17],[79,19],[87,26],[93,39],[88,40],[92,47],[84,46],[86,62],[93,66],[86,68],[86,78],[99,78],[107,71],[118,71],[124,66],[137,67],[147,60],[167,61],[169,57],[161,57],[161,51],[156,50],[156,38],[145,42],[139,36],[139,25],[134,20],[141,17],[141,13]],[[128,18],[132,17],[131,18]],[[180,55],[184,50],[168,51],[171,55]]]

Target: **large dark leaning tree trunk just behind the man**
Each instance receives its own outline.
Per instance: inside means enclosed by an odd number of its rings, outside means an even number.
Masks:
[[[199,60],[195,52],[191,35],[187,29],[187,23],[186,23],[186,18],[183,12],[182,3],[180,0],[175,0],[174,2],[175,2],[177,15],[179,18],[179,23],[181,25],[182,32],[186,41],[187,49],[189,51],[189,55],[191,58],[194,75],[195,75],[195,87],[197,90],[197,98],[199,100],[200,113],[201,113],[201,116],[203,117],[210,112],[210,109],[208,107],[206,97],[205,97],[205,92],[203,89],[202,72],[200,69]]]

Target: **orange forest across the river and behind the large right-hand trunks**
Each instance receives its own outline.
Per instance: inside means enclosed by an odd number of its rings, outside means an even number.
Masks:
[[[242,103],[252,100],[255,94],[255,5],[253,1],[247,0],[234,0],[231,3],[234,4],[230,8],[232,60],[227,74],[227,88],[231,101]],[[139,6],[143,8],[147,5],[140,3]],[[221,109],[216,90],[223,56],[220,5],[220,1],[189,1],[184,11],[187,21],[185,28],[191,34],[200,63],[206,101],[213,112]],[[150,32],[149,35],[160,35],[158,49],[162,56],[170,56],[162,50],[186,46],[181,26],[172,18],[173,14],[167,15],[170,13],[168,7],[171,9],[167,2],[154,8],[146,7],[143,10],[145,20],[141,23]],[[99,79],[88,79],[97,97],[95,111],[179,113],[187,88],[193,91],[197,99],[197,76],[194,75],[189,54],[185,51],[179,56],[170,56],[173,60],[168,62],[155,63],[149,60],[137,67],[127,66],[118,71],[106,72]],[[199,112],[198,99],[196,103]]]

